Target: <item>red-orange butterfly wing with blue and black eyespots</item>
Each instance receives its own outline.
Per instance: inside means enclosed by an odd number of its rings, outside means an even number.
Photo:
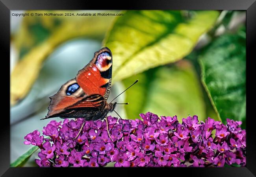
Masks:
[[[50,97],[48,114],[45,118],[58,117],[63,115],[62,113],[68,116],[68,107],[78,106],[80,101],[91,95],[100,95],[107,100],[111,89],[111,77],[112,54],[108,48],[102,48],[95,52],[93,59],[78,72],[75,79],[67,81],[56,94]],[[90,104],[80,103],[79,107],[81,108],[81,105],[84,106],[83,108],[91,107]],[[96,107],[93,106],[93,109]],[[72,114],[74,111],[70,112],[69,116],[73,116]]]

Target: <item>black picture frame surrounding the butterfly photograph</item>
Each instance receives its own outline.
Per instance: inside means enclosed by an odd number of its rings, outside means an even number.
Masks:
[[[256,0],[129,0],[127,2],[109,2],[109,1],[89,1],[89,0],[0,0],[0,45],[2,48],[1,61],[10,56],[10,11],[11,10],[36,10],[36,9],[188,9],[188,10],[246,10],[246,32],[247,32],[247,166],[241,168],[10,168],[10,123],[7,115],[2,113],[1,119],[1,147],[0,147],[0,175],[2,176],[54,176],[58,175],[77,175],[83,173],[84,175],[94,174],[99,176],[103,173],[105,176],[134,176],[143,172],[153,175],[161,175],[163,173],[169,175],[186,175],[186,176],[202,176],[202,177],[250,177],[256,175],[256,133],[255,133],[255,118],[250,112],[254,109],[254,96],[255,90],[254,81],[250,81],[254,74],[253,60],[255,57],[255,44],[256,44]],[[2,68],[7,70],[7,67],[2,62]],[[6,77],[6,73],[2,77]],[[8,77],[6,78],[6,80]],[[4,82],[4,81],[3,81]],[[5,82],[2,85],[2,91],[7,90]],[[3,84],[3,83],[2,83]],[[3,92],[1,92],[3,93]],[[2,94],[7,95],[7,94]],[[249,95],[249,96],[248,96]],[[7,96],[7,98],[8,96]],[[250,103],[251,102],[251,103]],[[7,105],[2,102],[2,105]],[[4,112],[2,107],[1,112]],[[176,174],[175,174],[176,173]],[[65,176],[64,175],[64,176]]]

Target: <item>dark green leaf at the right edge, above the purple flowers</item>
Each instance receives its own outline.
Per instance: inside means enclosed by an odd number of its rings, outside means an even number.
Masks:
[[[199,57],[202,83],[223,123],[246,119],[246,41],[240,34],[222,35]]]

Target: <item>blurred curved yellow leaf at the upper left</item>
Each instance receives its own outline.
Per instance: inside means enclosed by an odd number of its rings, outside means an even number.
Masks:
[[[32,11],[30,11],[31,13]],[[64,11],[64,13],[67,11]],[[74,11],[74,13],[79,11]],[[37,12],[38,13],[38,12]],[[58,11],[61,13],[61,11]],[[116,11],[115,11],[116,13]],[[25,39],[20,37],[20,43],[24,43],[28,52],[17,63],[13,72],[11,73],[11,104],[17,103],[17,101],[23,99],[28,91],[31,89],[35,79],[37,78],[43,61],[52,53],[57,46],[65,41],[74,39],[76,37],[86,37],[91,39],[98,39],[100,36],[104,36],[105,31],[108,29],[113,16],[83,16],[83,17],[59,17],[60,23],[57,27],[49,25],[51,23],[50,17],[41,17],[41,20],[27,20],[27,23],[23,25],[32,26],[33,23],[41,23],[45,30],[48,30],[49,34],[45,35],[43,39],[37,40],[34,34],[30,36],[28,29],[21,27],[24,31],[18,33],[18,35],[26,34],[26,39],[30,42],[26,43]],[[25,17],[26,19],[26,17]],[[48,24],[48,26],[46,25]],[[43,28],[43,27],[42,27]],[[30,37],[32,39],[30,39]],[[19,43],[18,42],[18,43]],[[20,44],[19,44],[20,45]],[[17,45],[17,46],[19,46]],[[19,50],[19,49],[18,49]]]

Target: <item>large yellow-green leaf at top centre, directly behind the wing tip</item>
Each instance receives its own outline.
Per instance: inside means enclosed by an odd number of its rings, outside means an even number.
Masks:
[[[173,63],[193,50],[218,11],[124,11],[104,39],[113,53],[113,81]]]

